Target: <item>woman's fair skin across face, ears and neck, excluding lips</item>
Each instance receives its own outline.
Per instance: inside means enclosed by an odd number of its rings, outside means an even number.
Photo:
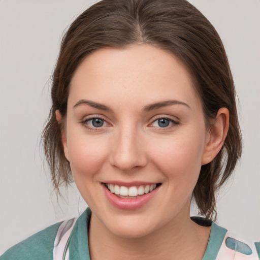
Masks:
[[[210,228],[190,220],[191,194],[201,166],[223,144],[229,112],[221,108],[206,128],[192,82],[179,59],[147,44],[95,51],[77,68],[62,143],[92,210],[91,259],[202,259]],[[185,104],[144,109],[169,100]],[[56,117],[61,122],[59,111]],[[93,117],[103,126],[94,127]],[[160,127],[158,118],[173,122]],[[141,208],[123,210],[105,196],[102,183],[111,181],[161,185]]]

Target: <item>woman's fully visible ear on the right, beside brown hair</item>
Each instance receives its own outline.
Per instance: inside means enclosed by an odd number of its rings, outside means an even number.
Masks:
[[[223,146],[229,130],[229,115],[227,108],[220,108],[211,122],[201,165],[210,163]]]

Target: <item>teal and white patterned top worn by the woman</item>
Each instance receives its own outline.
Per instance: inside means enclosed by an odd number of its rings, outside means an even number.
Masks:
[[[90,260],[88,225],[91,211],[87,208],[78,219],[54,225],[11,247],[0,260]],[[204,226],[211,225],[210,238],[202,260],[258,260],[260,243],[245,242],[210,220],[191,217]]]

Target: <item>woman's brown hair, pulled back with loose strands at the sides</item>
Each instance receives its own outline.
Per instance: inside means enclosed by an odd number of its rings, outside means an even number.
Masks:
[[[61,129],[55,118],[66,118],[70,82],[83,59],[104,47],[124,48],[147,43],[178,56],[194,79],[206,125],[217,111],[228,108],[230,128],[211,163],[203,165],[193,198],[200,213],[214,218],[215,194],[232,174],[241,155],[241,133],[234,82],[223,44],[211,23],[185,0],[103,0],[84,11],[64,35],[51,89],[52,107],[42,141],[58,191],[73,181],[64,156]]]

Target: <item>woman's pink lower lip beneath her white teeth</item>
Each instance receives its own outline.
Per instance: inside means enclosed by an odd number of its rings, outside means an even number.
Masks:
[[[140,196],[135,199],[122,199],[117,197],[114,193],[110,192],[104,184],[102,184],[105,195],[109,202],[118,209],[124,210],[133,210],[143,207],[146,203],[148,203],[157,193],[158,187],[153,191]]]

